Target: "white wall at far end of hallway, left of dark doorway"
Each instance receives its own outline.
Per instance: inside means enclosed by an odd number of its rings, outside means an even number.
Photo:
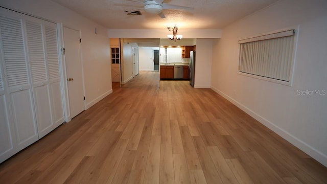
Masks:
[[[139,71],[154,71],[153,50],[159,50],[159,48],[138,47]]]

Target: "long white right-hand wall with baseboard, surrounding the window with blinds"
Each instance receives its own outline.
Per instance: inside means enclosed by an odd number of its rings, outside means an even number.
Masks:
[[[326,1],[280,1],[223,29],[214,42],[212,88],[327,166]],[[300,25],[292,86],[238,75],[241,38]]]

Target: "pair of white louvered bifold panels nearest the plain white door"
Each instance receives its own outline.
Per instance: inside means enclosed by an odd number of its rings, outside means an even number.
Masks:
[[[64,122],[57,25],[26,17],[29,62],[39,138]]]

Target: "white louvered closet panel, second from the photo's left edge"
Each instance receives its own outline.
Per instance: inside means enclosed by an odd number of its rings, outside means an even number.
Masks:
[[[0,30],[5,88],[10,101],[8,104],[15,129],[16,147],[21,150],[38,140],[22,17],[0,15]]]

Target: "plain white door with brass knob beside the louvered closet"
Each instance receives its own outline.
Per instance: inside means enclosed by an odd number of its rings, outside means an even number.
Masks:
[[[79,31],[64,27],[65,62],[71,118],[84,109],[83,67]]]

